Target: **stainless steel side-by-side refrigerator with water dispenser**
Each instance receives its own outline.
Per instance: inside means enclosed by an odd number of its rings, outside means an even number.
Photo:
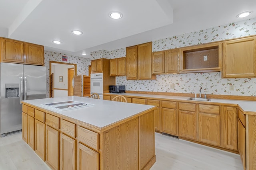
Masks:
[[[22,100],[46,98],[46,67],[0,63],[0,136],[22,129]]]

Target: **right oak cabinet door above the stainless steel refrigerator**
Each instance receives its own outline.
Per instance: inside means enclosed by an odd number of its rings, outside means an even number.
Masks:
[[[26,43],[26,63],[44,65],[44,46]]]

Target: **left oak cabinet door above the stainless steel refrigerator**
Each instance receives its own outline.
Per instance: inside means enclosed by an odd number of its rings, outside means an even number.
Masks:
[[[1,38],[1,61],[24,63],[24,43]]]

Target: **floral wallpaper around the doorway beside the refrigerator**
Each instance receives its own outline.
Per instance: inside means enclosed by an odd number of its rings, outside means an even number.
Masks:
[[[62,61],[62,55],[68,57],[68,61]],[[76,57],[72,55],[66,55],[61,53],[56,53],[52,51],[44,51],[44,65],[46,66],[46,83],[47,83],[47,98],[49,98],[49,90],[50,90],[50,61],[58,61],[62,63],[72,63],[77,64],[76,70],[77,75],[86,75],[88,76],[88,66],[91,64],[91,60],[84,57]],[[83,84],[82,84],[83,86]],[[82,88],[83,91],[83,88]]]

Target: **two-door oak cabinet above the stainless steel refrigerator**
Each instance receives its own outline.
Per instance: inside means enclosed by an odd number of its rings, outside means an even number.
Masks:
[[[44,46],[0,38],[1,62],[44,65]]]

